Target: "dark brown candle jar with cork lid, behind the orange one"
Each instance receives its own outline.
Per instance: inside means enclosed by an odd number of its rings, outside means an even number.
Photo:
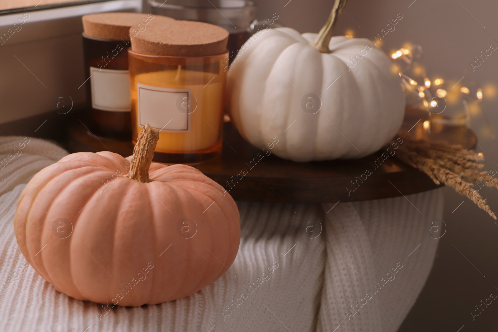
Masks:
[[[131,104],[127,50],[134,35],[154,19],[173,20],[142,13],[112,12],[82,17],[83,50],[90,128],[97,135],[131,137]]]

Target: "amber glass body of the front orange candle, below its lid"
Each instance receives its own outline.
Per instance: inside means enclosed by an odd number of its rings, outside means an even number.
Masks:
[[[133,144],[146,123],[160,129],[154,160],[195,163],[222,150],[228,55],[181,57],[128,50]]]

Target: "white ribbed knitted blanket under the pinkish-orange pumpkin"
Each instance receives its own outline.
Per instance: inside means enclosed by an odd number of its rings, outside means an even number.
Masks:
[[[0,137],[1,332],[395,332],[434,260],[428,222],[442,215],[440,190],[337,205],[238,202],[239,253],[212,285],[136,308],[75,300],[27,264],[12,225],[23,184],[66,154]]]

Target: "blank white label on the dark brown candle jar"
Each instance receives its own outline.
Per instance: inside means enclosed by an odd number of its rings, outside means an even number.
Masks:
[[[127,70],[90,67],[92,107],[102,111],[131,111]]]

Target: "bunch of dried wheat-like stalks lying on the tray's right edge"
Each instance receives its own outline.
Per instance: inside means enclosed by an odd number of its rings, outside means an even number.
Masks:
[[[427,174],[434,183],[444,183],[452,187],[497,220],[486,200],[473,189],[474,183],[479,181],[488,187],[498,188],[498,179],[487,180],[485,177],[488,173],[480,170],[484,165],[477,162],[484,159],[482,156],[475,151],[464,149],[461,145],[444,141],[416,140],[407,132],[399,131],[397,137],[403,139],[403,143],[399,144],[396,150],[399,159]]]

